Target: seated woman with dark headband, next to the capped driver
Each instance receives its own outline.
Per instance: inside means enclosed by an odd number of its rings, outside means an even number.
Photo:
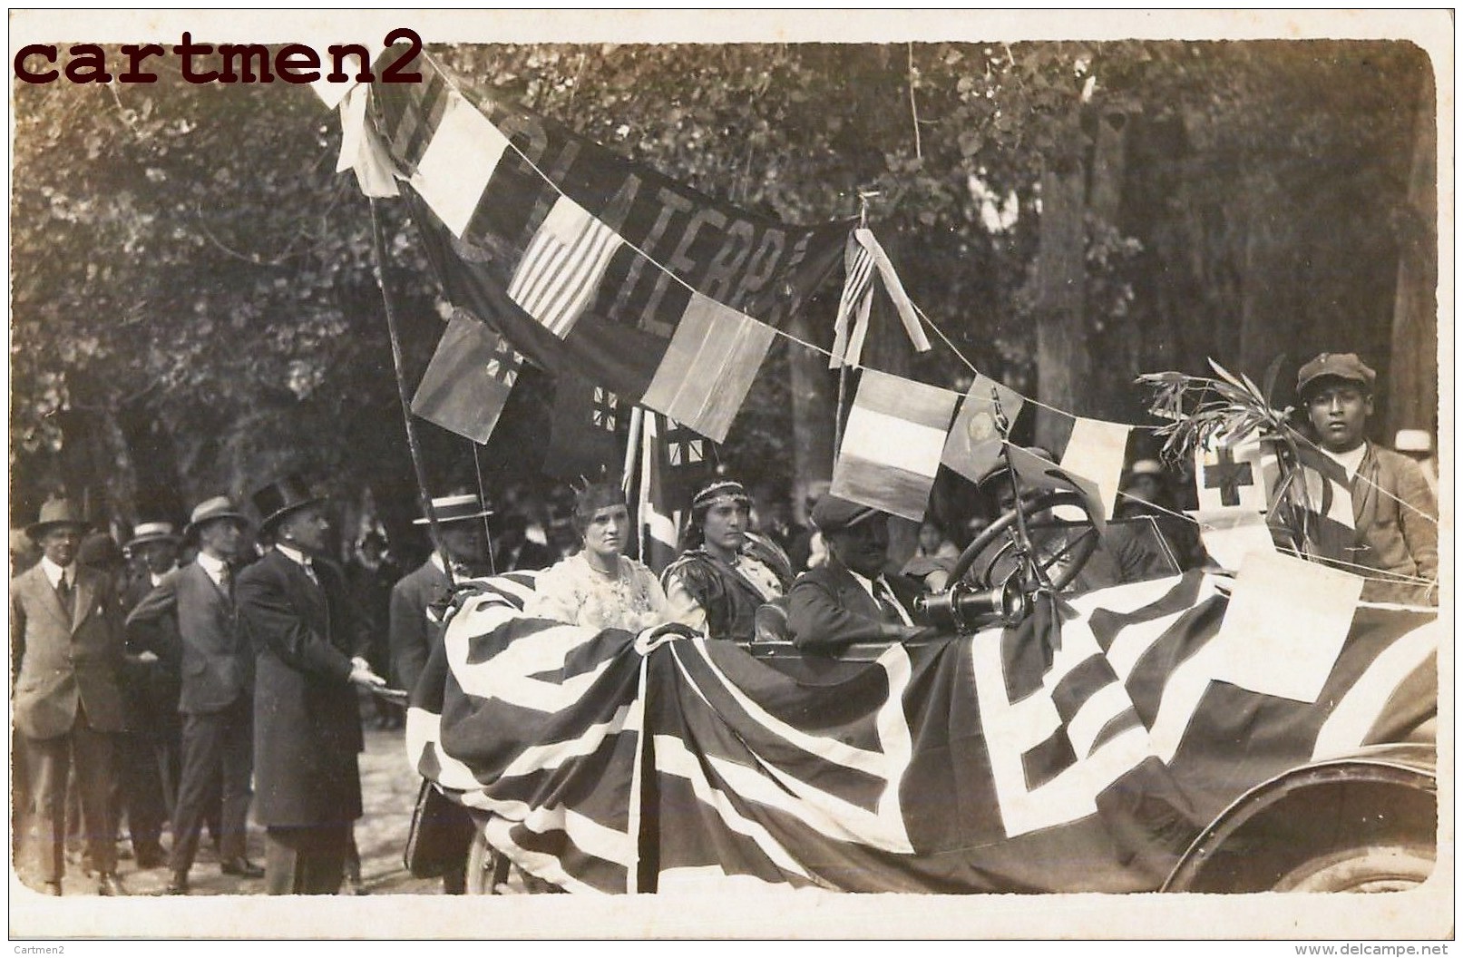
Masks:
[[[733,480],[696,493],[688,548],[661,573],[674,620],[712,639],[751,642],[756,607],[783,595],[791,579],[775,546],[749,535],[751,505]]]

